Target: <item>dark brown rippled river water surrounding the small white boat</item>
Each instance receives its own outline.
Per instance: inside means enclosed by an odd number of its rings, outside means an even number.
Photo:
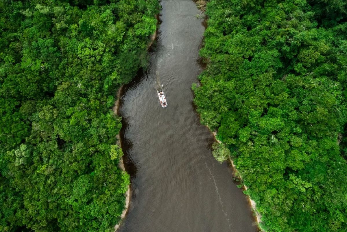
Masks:
[[[124,87],[121,143],[131,177],[129,211],[119,231],[257,231],[251,206],[214,137],[194,110],[192,83],[203,19],[191,0],[162,0],[158,40],[143,75]],[[166,95],[162,108],[156,79]]]

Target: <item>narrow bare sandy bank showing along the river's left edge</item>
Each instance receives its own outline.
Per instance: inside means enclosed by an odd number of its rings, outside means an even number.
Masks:
[[[149,49],[151,48],[151,46],[153,45],[157,35],[158,35],[158,25],[159,25],[159,15],[155,15],[155,18],[157,20],[156,22],[156,30],[155,32],[153,33],[153,35],[150,36],[150,42],[147,46],[147,51],[149,51]],[[118,91],[117,91],[117,101],[115,102],[115,105],[113,106],[112,108],[112,111],[114,114],[118,115],[119,116],[119,104],[120,104],[120,96],[122,94],[122,90],[124,88],[124,85],[120,86]],[[120,133],[118,133],[117,135],[117,145],[122,147],[121,146],[121,141],[120,141]],[[119,160],[119,168],[126,172],[125,170],[125,166],[124,166],[124,160],[123,160],[123,157]],[[130,189],[130,184],[128,186],[128,190],[125,192],[125,206],[124,206],[124,209],[123,209],[123,212],[122,214],[120,215],[120,221],[117,225],[115,225],[115,231],[117,231],[119,229],[119,226],[121,224],[121,222],[124,220],[125,216],[127,215],[128,213],[128,208],[129,208],[129,203],[130,203],[130,193],[131,193],[131,189]]]

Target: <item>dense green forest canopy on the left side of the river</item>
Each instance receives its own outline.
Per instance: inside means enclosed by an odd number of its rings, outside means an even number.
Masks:
[[[0,231],[105,231],[124,208],[117,88],[156,0],[0,1]]]

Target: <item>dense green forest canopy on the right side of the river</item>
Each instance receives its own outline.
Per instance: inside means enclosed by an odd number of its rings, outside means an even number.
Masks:
[[[212,0],[206,14],[194,102],[262,229],[345,231],[347,2]]]

